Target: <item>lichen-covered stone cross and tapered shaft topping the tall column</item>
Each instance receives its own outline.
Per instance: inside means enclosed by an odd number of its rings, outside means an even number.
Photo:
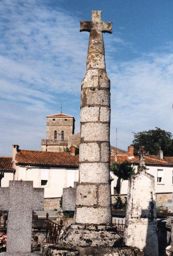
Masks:
[[[102,32],[112,33],[112,22],[103,22],[101,20],[101,11],[92,11],[91,21],[81,20],[80,25],[80,31],[90,32],[86,70],[90,68],[105,69]]]

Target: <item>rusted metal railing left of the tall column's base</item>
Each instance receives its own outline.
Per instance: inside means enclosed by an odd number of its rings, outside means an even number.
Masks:
[[[63,220],[60,220],[60,224],[57,224],[49,220],[48,213],[46,214],[46,242],[47,243],[56,243],[62,229]]]

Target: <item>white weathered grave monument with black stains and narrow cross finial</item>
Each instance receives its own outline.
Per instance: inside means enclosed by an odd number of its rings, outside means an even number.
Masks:
[[[146,172],[143,146],[139,158],[138,172],[128,185],[125,244],[142,249],[145,256],[158,256],[154,176]]]

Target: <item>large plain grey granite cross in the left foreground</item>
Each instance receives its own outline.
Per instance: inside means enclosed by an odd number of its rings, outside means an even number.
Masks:
[[[33,181],[9,181],[0,188],[0,210],[8,210],[7,253],[30,253],[33,210],[43,210],[44,188]]]

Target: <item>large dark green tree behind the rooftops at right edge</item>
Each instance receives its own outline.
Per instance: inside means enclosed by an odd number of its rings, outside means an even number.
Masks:
[[[139,146],[144,146],[150,155],[157,155],[157,151],[161,147],[164,156],[173,156],[172,133],[161,130],[158,127],[155,130],[135,134],[131,146],[134,146],[135,155],[138,155]]]

